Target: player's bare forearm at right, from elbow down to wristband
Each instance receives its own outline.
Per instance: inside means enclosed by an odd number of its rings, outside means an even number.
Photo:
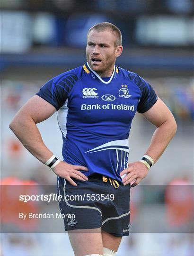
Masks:
[[[170,140],[176,133],[176,122],[174,118],[164,122],[154,132],[146,155],[150,155],[154,162],[163,154]]]

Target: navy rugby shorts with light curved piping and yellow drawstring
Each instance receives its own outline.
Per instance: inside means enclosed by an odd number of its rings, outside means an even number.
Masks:
[[[65,230],[102,228],[114,236],[129,235],[130,184],[123,185],[101,174],[93,174],[88,181],[75,180],[72,186],[58,177],[59,207]]]

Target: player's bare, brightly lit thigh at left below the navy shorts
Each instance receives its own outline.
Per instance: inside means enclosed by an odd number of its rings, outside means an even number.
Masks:
[[[68,231],[75,256],[103,255],[101,229],[78,229]]]

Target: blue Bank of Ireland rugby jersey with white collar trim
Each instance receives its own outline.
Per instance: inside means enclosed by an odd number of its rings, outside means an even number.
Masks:
[[[158,99],[138,74],[115,66],[104,79],[88,63],[46,82],[37,95],[57,110],[64,161],[87,166],[87,176],[99,173],[120,182],[135,112],[146,112]]]

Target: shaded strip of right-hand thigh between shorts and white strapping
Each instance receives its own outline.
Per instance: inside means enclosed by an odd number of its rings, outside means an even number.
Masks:
[[[111,249],[115,252],[117,252],[118,247],[121,243],[122,237],[115,237],[106,231],[102,230],[102,243],[103,247],[106,247],[108,249]]]

